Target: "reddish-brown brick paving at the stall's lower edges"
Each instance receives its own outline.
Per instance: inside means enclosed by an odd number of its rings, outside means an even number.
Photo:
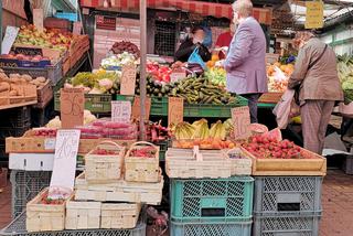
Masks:
[[[330,170],[322,186],[323,216],[320,236],[353,235],[353,175]],[[10,184],[0,193],[0,228],[11,222]],[[153,236],[149,230],[148,236]]]

